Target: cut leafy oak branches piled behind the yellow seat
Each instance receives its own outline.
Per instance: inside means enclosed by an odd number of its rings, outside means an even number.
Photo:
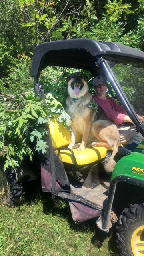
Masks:
[[[4,170],[20,166],[26,156],[32,162],[35,151],[46,152],[45,125],[54,114],[59,114],[59,122],[70,125],[70,118],[51,94],[46,96],[46,105],[30,92],[6,100],[2,99],[0,105],[0,156],[5,161]]]

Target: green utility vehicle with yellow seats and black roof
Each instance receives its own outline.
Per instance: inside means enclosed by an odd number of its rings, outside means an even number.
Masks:
[[[31,77],[35,96],[41,93],[43,101],[39,76],[47,66],[87,70],[91,78],[98,74],[104,76],[108,90],[114,91],[136,131],[144,136],[144,125],[136,115],[144,115],[144,52],[90,39],[40,44],[34,50]],[[144,141],[132,140],[118,149],[107,187],[103,183],[103,163],[112,148],[68,149],[70,130],[58,122],[57,116],[47,129],[49,148],[41,161],[42,191],[66,200],[76,224],[94,219],[101,230],[108,232],[117,222],[120,255],[144,255]],[[77,134],[77,142],[80,140]],[[9,185],[8,174],[1,171],[2,175],[1,187],[4,181]]]

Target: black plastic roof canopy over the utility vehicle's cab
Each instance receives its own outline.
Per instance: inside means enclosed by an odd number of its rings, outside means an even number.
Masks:
[[[34,49],[31,77],[46,66],[62,66],[92,71],[97,56],[126,56],[144,60],[144,52],[113,42],[92,39],[58,40],[39,44]]]

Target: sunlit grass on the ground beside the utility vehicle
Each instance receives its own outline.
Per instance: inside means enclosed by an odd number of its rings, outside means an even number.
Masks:
[[[46,196],[12,208],[1,202],[0,256],[118,256],[112,234],[92,221],[75,225],[68,206]]]

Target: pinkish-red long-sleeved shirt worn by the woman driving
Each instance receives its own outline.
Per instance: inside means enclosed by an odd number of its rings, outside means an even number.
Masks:
[[[127,115],[124,108],[118,105],[113,98],[106,98],[107,100],[103,100],[95,95],[93,100],[96,101],[96,103],[102,108],[104,114],[112,120],[116,126],[123,124],[124,116]]]

